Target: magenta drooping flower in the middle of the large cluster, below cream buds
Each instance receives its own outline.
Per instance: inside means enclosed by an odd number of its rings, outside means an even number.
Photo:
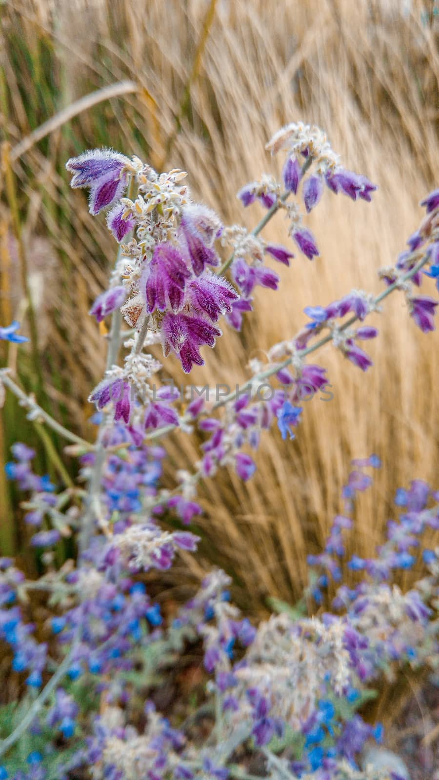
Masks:
[[[162,243],[155,247],[151,263],[145,268],[141,285],[145,285],[146,308],[177,312],[184,300],[184,287],[191,273],[177,247]]]

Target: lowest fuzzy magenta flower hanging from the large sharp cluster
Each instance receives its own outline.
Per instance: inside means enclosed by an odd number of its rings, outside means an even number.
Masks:
[[[204,360],[198,348],[202,344],[215,346],[215,339],[221,331],[206,322],[202,317],[190,317],[188,314],[166,314],[162,321],[163,350],[165,356],[172,349],[180,358],[186,374],[191,371],[192,363],[203,366]]]

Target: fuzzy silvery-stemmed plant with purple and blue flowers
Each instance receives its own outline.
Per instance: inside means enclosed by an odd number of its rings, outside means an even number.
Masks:
[[[380,742],[382,729],[358,710],[376,695],[373,686],[398,668],[437,673],[438,550],[423,551],[425,573],[411,589],[395,581],[415,562],[423,534],[439,527],[437,494],[426,484],[414,482],[398,493],[403,514],[389,523],[376,558],[350,559],[349,569],[359,572],[350,589],[342,582],[344,533],[352,527],[356,494],[371,483],[368,470],[380,465],[377,456],[355,462],[344,513],[334,519],[324,551],[309,558],[303,605],[278,604],[278,614],[259,627],[232,605],[230,577],[221,571],[206,576],[170,619],[148,593],[154,569],[169,569],[175,555],[197,548],[200,537],[185,527],[202,513],[200,480],[222,466],[249,480],[256,468],[250,453],[263,431],[277,424],[282,438],[294,438],[302,401],[327,392],[324,367],[307,362],[312,353],[332,342],[366,371],[372,361],[360,345],[378,335],[366,319],[395,291],[405,295],[423,332],[434,329],[438,302],[416,288],[426,275],[439,276],[438,190],[423,201],[427,215],[409,248],[380,271],[381,293],[352,290],[307,307],[302,330],[273,345],[266,363],[250,361],[248,381],[234,392],[219,397],[217,387],[214,401],[207,386],[192,386],[191,397],[182,398],[166,381],[167,360],[179,360],[186,374],[204,364],[206,348],[222,335],[221,318],[241,329],[256,285],[277,289],[279,277],[266,260],[288,266],[294,258],[288,246],[262,238],[277,211],[287,218],[294,251],[312,261],[319,249],[305,215],[324,191],[369,202],[377,189],[344,169],[314,126],[291,123],[267,149],[284,153],[283,181],[262,176],[241,188],[244,207],[257,201],[266,210],[252,232],[223,226],[212,209],[195,203],[183,171],[159,174],[112,150],[87,151],[66,164],[71,185],[89,189],[91,214],[107,211],[119,244],[109,289],[91,307],[98,322],[112,320],[105,375],[90,395],[95,443],[63,428],[8,371],[1,373],[3,387],[18,395],[30,420],[70,442],[70,454],[80,459],[80,482],[58,490],[34,473],[34,452],[14,445],[7,475],[27,493],[24,519],[30,544],[43,550],[44,572],[30,580],[12,560],[0,561],[0,640],[27,688],[21,704],[1,716],[0,778],[59,780],[82,777],[82,771],[96,780],[225,780],[250,777],[252,761],[258,776],[284,780],[404,776],[395,766],[381,771],[363,761],[360,768],[367,741]],[[0,338],[22,342],[18,327],[0,328]],[[162,346],[163,360],[155,345]],[[166,442],[177,427],[186,435],[197,427],[205,440],[195,469],[176,473],[175,485],[163,488],[166,445],[154,442]],[[53,548],[62,537],[75,539],[77,556],[57,567]],[[52,610],[43,630],[47,641],[27,622],[34,591],[46,594]],[[194,715],[209,725],[202,736],[191,732],[191,717],[174,722],[152,700],[156,676],[170,674],[178,654],[197,641],[211,675],[201,713]]]

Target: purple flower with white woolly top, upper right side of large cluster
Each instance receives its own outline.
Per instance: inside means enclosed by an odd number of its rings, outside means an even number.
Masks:
[[[215,211],[202,204],[187,205],[180,224],[195,275],[199,276],[205,265],[218,265],[213,243],[221,235],[223,225]]]

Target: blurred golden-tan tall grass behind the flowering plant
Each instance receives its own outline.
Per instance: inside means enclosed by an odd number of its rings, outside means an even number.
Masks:
[[[64,168],[90,147],[184,168],[195,199],[224,222],[248,227],[262,211],[242,211],[235,193],[262,172],[279,172],[264,145],[285,122],[322,126],[344,165],[380,186],[372,204],[325,193],[309,218],[322,257],[313,264],[298,257],[281,269],[280,291],[256,296],[241,335],[224,328],[215,351],[205,349],[195,382],[234,386],[247,378],[249,357],[302,326],[306,305],[329,303],[353,287],[379,290],[377,268],[394,262],[419,224],[419,200],[437,186],[438,10],[433,0],[2,2],[1,323],[16,317],[29,332],[28,285],[37,329],[36,354],[2,345],[2,364],[63,424],[94,435],[87,395],[102,376],[105,341],[87,310],[105,289],[115,246],[104,219],[88,214],[85,193],[70,190]],[[81,97],[125,80],[119,97],[27,141]],[[10,172],[16,208],[7,193]],[[284,241],[282,218],[264,235]],[[419,477],[437,487],[437,334],[415,328],[402,296],[386,303],[382,320],[373,319],[381,330],[369,348],[373,369],[363,375],[327,347],[316,362],[327,367],[334,399],[305,405],[296,441],[280,441],[277,430],[266,434],[248,484],[223,470],[201,488],[202,555],[189,565],[196,577],[212,562],[223,566],[250,610],[265,608],[268,595],[300,595],[306,553],[321,549],[341,509],[352,457],[377,452],[383,460],[359,504],[359,555],[382,540],[398,486]],[[172,358],[166,371],[181,378]],[[8,396],[3,462],[13,441],[38,443],[23,417]],[[63,442],[49,435],[74,475]],[[198,459],[198,447],[195,436],[173,434],[169,484],[176,466]],[[39,465],[59,481],[47,447],[39,450]],[[0,546],[25,555],[25,530],[11,509],[18,496],[3,468],[0,474]],[[173,573],[180,583],[178,567]]]

